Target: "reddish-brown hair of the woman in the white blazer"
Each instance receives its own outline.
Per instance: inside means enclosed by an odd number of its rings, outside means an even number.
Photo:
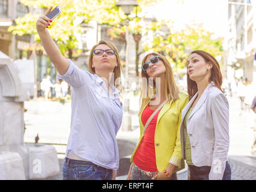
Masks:
[[[212,64],[212,68],[210,69],[209,83],[213,81],[215,83],[215,86],[222,91],[222,74],[218,61],[210,53],[204,52],[203,50],[194,50],[190,53],[190,55],[192,55],[193,53],[197,53],[198,55],[203,57],[205,62],[210,62],[210,64]],[[197,83],[194,80],[191,80],[189,78],[189,74],[187,73],[187,94],[189,94],[190,98],[192,98],[197,92]]]

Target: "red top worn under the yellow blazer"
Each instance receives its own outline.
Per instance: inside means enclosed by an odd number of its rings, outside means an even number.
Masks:
[[[160,112],[160,110],[159,110]],[[145,131],[144,137],[135,152],[133,162],[143,170],[148,172],[157,172],[156,167],[156,152],[154,151],[154,132],[156,130],[156,122],[159,112],[154,115],[150,124]],[[148,106],[144,109],[141,115],[142,124],[145,125],[150,115],[154,113],[153,109]]]

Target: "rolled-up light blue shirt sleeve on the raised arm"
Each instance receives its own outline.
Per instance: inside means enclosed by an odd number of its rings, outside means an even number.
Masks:
[[[73,88],[81,88],[82,86],[90,84],[93,80],[93,74],[76,67],[71,59],[68,59],[68,61],[69,69],[63,75],[58,73],[57,78],[65,80]]]

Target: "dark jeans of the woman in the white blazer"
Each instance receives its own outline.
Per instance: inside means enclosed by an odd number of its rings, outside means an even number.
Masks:
[[[189,166],[190,180],[209,180],[210,170],[210,166]],[[226,163],[222,180],[231,180],[231,167],[228,161]]]

